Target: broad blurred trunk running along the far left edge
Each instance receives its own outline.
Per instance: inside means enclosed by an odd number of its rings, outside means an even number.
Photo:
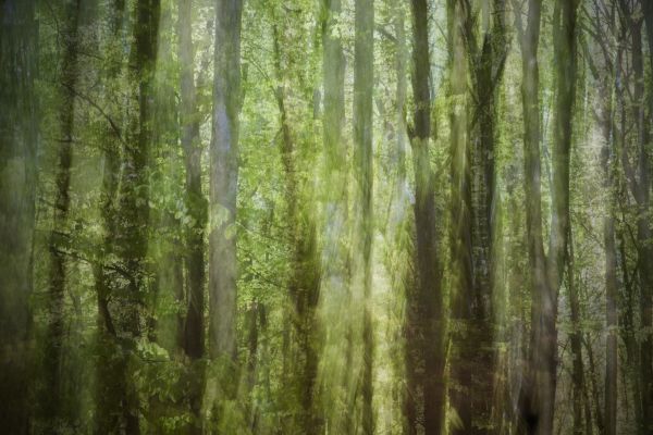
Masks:
[[[33,0],[0,1],[0,427],[30,433],[38,23]]]

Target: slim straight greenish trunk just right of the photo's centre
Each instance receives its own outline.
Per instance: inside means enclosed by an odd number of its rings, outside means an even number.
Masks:
[[[372,290],[372,97],[374,69],[374,1],[356,1],[356,37],[354,72],[354,139],[356,141],[356,175],[360,214],[358,216],[358,249],[362,268],[362,433],[374,433],[372,407],[373,331],[370,298]]]

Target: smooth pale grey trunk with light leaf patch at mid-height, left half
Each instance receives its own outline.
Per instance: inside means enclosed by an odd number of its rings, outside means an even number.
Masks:
[[[209,192],[209,356],[220,369],[219,427],[223,413],[220,402],[233,400],[237,386],[233,380],[237,378],[235,225],[242,15],[242,0],[217,1]]]

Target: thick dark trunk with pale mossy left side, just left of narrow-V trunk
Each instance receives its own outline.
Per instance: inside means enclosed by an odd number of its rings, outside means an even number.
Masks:
[[[454,431],[485,433],[492,426],[494,390],[495,95],[507,54],[505,1],[493,1],[488,11],[475,10],[457,0],[448,4],[454,156],[452,222],[456,225],[452,254],[457,273],[453,315],[461,327],[456,328],[453,337],[459,352],[453,371],[456,382],[453,401],[461,425],[458,428],[454,425]],[[480,50],[479,16],[484,23]],[[470,87],[471,96],[466,94],[465,62],[475,85]],[[465,98],[465,104],[458,101],[460,97]]]

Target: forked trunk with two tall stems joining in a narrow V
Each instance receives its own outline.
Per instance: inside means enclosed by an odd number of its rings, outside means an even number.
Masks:
[[[517,3],[517,2],[515,2]],[[528,433],[553,433],[557,369],[557,299],[569,235],[569,158],[571,116],[576,98],[577,0],[557,1],[554,11],[556,65],[552,216],[549,258],[544,253],[541,208],[540,102],[538,41],[541,0],[529,0],[528,25],[521,33],[525,119],[526,211],[533,288],[529,376],[522,391],[522,420]],[[519,14],[520,11],[516,11]],[[521,17],[517,16],[518,23]]]

